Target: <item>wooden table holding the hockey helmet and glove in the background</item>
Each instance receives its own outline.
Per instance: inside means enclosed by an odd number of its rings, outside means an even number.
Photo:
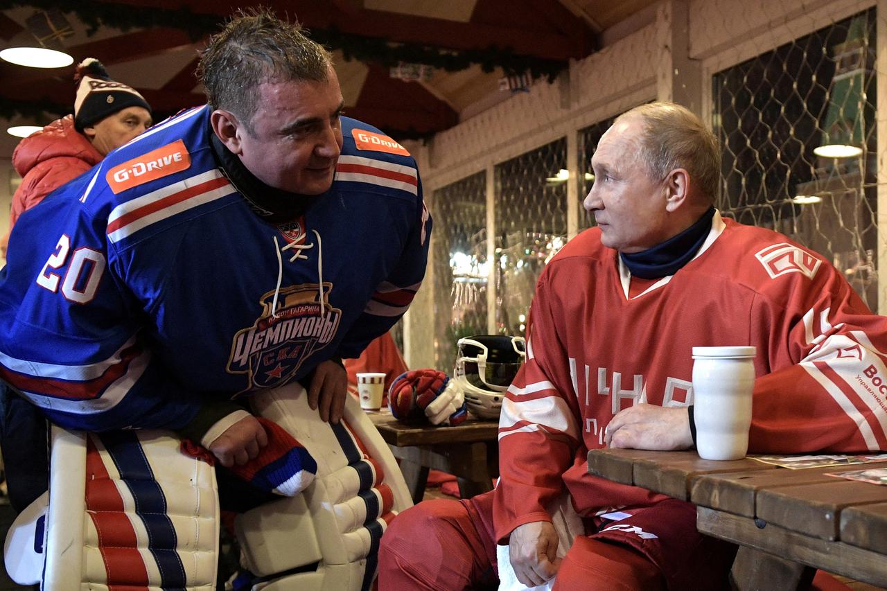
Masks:
[[[413,502],[422,500],[428,470],[456,477],[463,499],[491,491],[498,476],[498,422],[471,417],[458,427],[413,427],[398,422],[389,410],[368,413],[382,439],[400,460]]]

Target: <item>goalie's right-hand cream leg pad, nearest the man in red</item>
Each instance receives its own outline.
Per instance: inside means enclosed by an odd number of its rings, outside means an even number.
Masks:
[[[346,398],[343,420],[331,425],[310,409],[307,398],[298,384],[258,392],[250,398],[255,414],[277,422],[304,445],[317,461],[318,472],[300,495],[303,506],[276,502],[238,516],[243,563],[259,576],[317,563],[315,572],[274,579],[256,589],[311,589],[314,587],[308,581],[324,573],[318,589],[357,591],[374,579],[381,533],[412,500],[388,445],[357,400]],[[277,511],[294,511],[295,515],[283,516]],[[305,523],[309,520],[310,524]],[[279,525],[263,525],[269,522]],[[311,540],[310,532],[314,535]],[[369,576],[367,568],[372,569]],[[279,587],[283,580],[295,585],[294,578],[299,578],[298,587]],[[332,580],[339,583],[333,585]]]

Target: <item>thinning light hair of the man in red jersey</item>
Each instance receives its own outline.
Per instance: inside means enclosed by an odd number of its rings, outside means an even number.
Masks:
[[[709,201],[718,196],[720,147],[714,134],[686,107],[655,102],[636,106],[619,115],[640,117],[644,135],[640,160],[651,178],[663,179],[673,169],[686,169],[700,193]]]

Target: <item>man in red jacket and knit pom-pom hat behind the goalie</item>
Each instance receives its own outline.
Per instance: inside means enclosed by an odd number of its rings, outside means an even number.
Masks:
[[[12,166],[22,179],[12,195],[9,232],[23,211],[151,127],[151,106],[145,98],[111,80],[98,59],[84,59],[74,79],[74,114],[22,139],[12,153]],[[3,256],[9,232],[0,243]]]

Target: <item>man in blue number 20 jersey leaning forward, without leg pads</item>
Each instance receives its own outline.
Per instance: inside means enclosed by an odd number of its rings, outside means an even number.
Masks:
[[[0,377],[69,429],[176,429],[225,466],[265,444],[232,398],[298,380],[338,422],[343,357],[406,311],[431,221],[412,157],[342,116],[330,56],[270,12],[210,40],[208,105],[20,218]]]

